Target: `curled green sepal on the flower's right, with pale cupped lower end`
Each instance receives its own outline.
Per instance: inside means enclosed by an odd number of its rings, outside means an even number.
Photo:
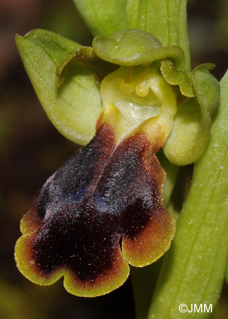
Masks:
[[[210,116],[219,103],[219,82],[209,73],[213,64],[206,63],[192,71],[192,84],[196,98],[181,106],[174,119],[163,151],[176,165],[187,165],[198,160],[203,154],[209,138]]]

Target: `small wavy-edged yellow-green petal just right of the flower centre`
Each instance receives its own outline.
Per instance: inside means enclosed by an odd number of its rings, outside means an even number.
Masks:
[[[193,85],[184,71],[175,69],[170,59],[163,59],[160,67],[164,79],[172,85],[179,85],[182,95],[189,98],[196,96]]]

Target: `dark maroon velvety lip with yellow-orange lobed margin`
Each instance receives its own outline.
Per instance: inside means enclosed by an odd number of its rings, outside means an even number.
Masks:
[[[102,124],[32,199],[16,244],[20,271],[40,285],[64,276],[68,292],[80,296],[118,288],[128,263],[151,264],[174,236],[164,177],[145,133],[115,145],[112,127]]]

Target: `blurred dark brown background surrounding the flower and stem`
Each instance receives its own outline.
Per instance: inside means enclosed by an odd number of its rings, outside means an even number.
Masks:
[[[228,0],[188,1],[192,67],[213,62],[218,80],[228,69]],[[0,319],[134,319],[131,280],[97,298],[75,297],[62,280],[30,283],[14,261],[19,225],[34,193],[78,148],[52,126],[24,71],[14,35],[33,28],[91,44],[71,0],[0,0]],[[224,286],[214,319],[228,318]]]

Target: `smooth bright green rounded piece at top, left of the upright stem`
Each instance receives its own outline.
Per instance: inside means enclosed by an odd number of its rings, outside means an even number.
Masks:
[[[126,29],[125,1],[73,0],[81,17],[95,36],[109,36],[116,30]]]

